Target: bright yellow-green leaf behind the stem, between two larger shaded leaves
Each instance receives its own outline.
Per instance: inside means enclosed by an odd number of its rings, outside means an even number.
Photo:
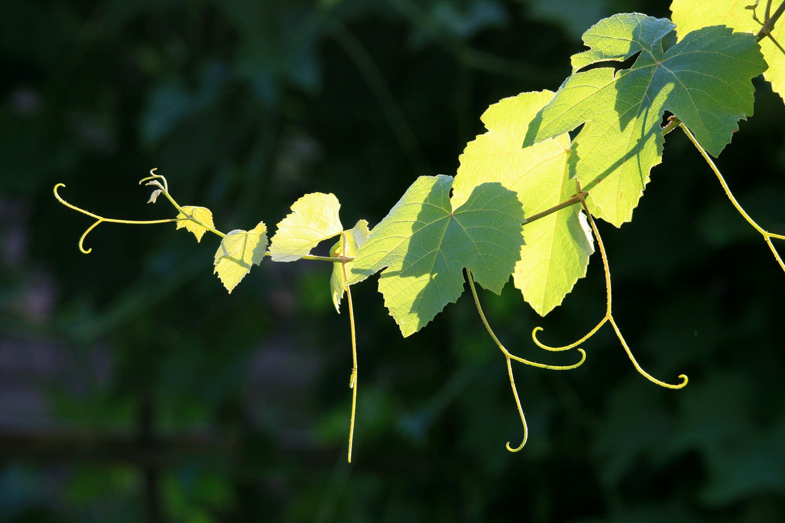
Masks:
[[[535,114],[553,98],[551,91],[521,93],[488,107],[482,116],[487,133],[469,142],[453,183],[453,205],[466,202],[474,187],[499,182],[515,191],[526,216],[571,198],[575,180],[568,177],[570,138],[562,134],[520,148]],[[520,247],[513,282],[524,300],[542,316],[557,307],[578,278],[586,276],[593,252],[592,236],[580,205],[524,223],[526,245]]]

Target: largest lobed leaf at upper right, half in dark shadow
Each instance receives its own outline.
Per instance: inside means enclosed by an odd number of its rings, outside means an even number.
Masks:
[[[597,216],[617,227],[632,218],[663,151],[664,111],[675,114],[717,156],[739,119],[752,114],[750,82],[766,64],[753,35],[704,27],[663,52],[674,29],[667,19],[637,13],[601,20],[583,35],[589,51],[572,56],[573,74],[529,125],[524,147],[581,129],[568,160],[597,205]],[[597,67],[637,56],[629,69]]]

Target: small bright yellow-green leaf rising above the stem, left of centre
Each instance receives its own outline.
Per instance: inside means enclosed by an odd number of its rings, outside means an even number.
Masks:
[[[294,261],[311,252],[322,240],[341,234],[341,204],[334,194],[305,194],[278,224],[270,242],[272,261]]]

